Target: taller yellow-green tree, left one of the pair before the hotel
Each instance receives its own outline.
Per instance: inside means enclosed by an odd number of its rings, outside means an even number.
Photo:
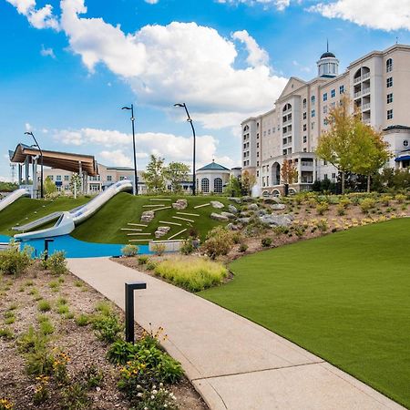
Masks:
[[[354,164],[354,133],[361,118],[357,111],[349,112],[350,100],[343,96],[340,105],[333,107],[327,118],[330,128],[319,137],[316,155],[330,162],[342,175],[344,193],[345,172]]]

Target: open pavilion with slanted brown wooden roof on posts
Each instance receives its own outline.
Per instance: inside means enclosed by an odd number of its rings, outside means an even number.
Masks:
[[[18,184],[26,185],[36,198],[38,190],[37,166],[41,164],[40,150],[26,144],[18,144],[14,151],[9,151],[10,161],[17,164]],[[92,155],[73,154],[43,149],[43,165],[45,167],[65,169],[76,172],[81,177],[81,190],[87,193],[87,176],[97,177],[97,161]],[[30,167],[32,168],[33,185],[29,186]]]

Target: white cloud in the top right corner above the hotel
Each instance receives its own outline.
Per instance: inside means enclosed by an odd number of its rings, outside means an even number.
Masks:
[[[359,26],[386,31],[410,30],[410,0],[337,0],[313,5],[309,10]]]

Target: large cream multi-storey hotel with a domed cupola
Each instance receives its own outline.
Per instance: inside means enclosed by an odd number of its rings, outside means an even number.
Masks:
[[[410,166],[410,46],[373,51],[343,74],[338,73],[339,60],[327,51],[317,67],[317,77],[291,77],[272,110],[241,123],[242,169],[257,177],[263,195],[282,192],[284,159],[292,159],[298,169],[291,190],[309,190],[316,179],[335,181],[337,170],[314,151],[328,128],[329,110],[343,94],[361,109],[365,123],[383,131],[394,154],[388,166]]]

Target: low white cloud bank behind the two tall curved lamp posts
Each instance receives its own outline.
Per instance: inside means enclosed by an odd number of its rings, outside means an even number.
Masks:
[[[118,130],[81,128],[77,130],[58,130],[54,138],[66,145],[104,147],[97,159],[108,165],[129,166],[129,154],[132,137],[130,134]],[[136,134],[137,158],[145,159],[146,163],[150,154],[159,155],[170,161],[191,162],[192,139],[166,133],[137,133]],[[212,159],[223,161],[222,164],[230,167],[235,165],[229,157],[218,157],[218,140],[210,135],[197,137],[197,162],[199,165],[209,163]],[[238,164],[236,164],[238,165]]]

